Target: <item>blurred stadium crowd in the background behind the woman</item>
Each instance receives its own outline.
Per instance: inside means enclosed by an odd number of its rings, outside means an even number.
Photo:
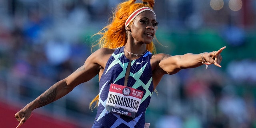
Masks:
[[[84,64],[94,51],[91,36],[121,1],[0,0],[0,99],[26,105]],[[156,0],[160,52],[227,48],[223,68],[164,76],[147,110],[152,128],[256,128],[256,1],[244,0],[238,12],[212,10],[208,2]],[[41,109],[90,126],[95,112],[88,104],[98,94],[98,81]]]

